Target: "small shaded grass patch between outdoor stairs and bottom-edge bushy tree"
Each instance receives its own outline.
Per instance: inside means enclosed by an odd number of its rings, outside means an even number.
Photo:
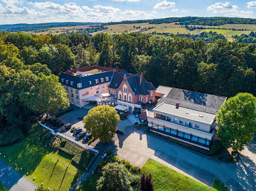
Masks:
[[[99,180],[101,175],[101,172],[94,172],[94,174],[90,174],[86,182],[78,188],[78,191],[96,191],[97,180]]]

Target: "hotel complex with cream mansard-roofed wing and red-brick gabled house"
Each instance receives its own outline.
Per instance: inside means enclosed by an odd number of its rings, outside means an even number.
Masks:
[[[141,104],[155,102],[155,87],[143,75],[124,69],[92,66],[72,69],[60,75],[70,104],[82,108],[90,102],[122,111],[139,111]]]

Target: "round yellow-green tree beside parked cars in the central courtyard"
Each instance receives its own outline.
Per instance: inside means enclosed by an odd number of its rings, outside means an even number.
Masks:
[[[116,132],[117,123],[120,117],[115,108],[111,106],[97,106],[92,108],[84,116],[84,128],[92,134],[92,137],[99,138],[101,142],[109,142]]]

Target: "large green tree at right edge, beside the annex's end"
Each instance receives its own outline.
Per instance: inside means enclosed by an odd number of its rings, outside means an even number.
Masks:
[[[256,98],[251,93],[238,93],[220,107],[216,118],[222,146],[243,150],[256,132]]]

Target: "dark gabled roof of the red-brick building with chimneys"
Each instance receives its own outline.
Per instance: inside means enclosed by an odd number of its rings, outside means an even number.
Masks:
[[[111,83],[109,84],[110,88],[118,89],[123,81],[124,75],[127,76],[127,82],[131,87],[131,90],[135,95],[148,95],[149,92],[147,90],[154,90],[155,87],[151,82],[148,82],[144,77],[142,77],[142,81],[140,83],[140,75],[133,75],[131,73],[123,73],[123,72],[114,72],[113,77],[111,79]]]

